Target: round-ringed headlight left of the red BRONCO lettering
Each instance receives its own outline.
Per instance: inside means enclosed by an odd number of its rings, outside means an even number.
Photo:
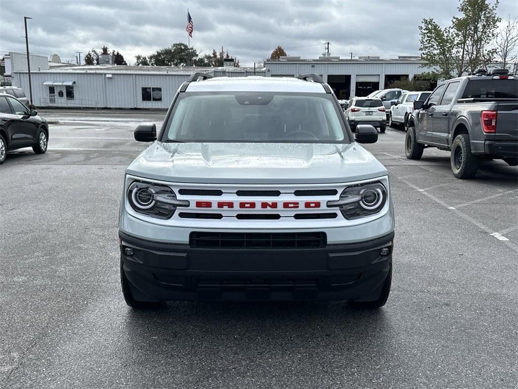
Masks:
[[[189,201],[176,198],[166,185],[133,182],[128,188],[127,199],[135,212],[159,219],[169,219],[179,206],[189,206]]]

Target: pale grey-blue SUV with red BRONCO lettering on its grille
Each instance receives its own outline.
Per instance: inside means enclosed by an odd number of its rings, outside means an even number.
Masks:
[[[356,141],[318,75],[212,78],[179,88],[153,143],[128,166],[121,284],[134,308],[162,300],[385,304],[394,211],[384,166]]]

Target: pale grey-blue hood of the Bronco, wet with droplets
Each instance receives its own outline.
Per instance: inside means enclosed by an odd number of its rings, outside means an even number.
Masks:
[[[376,178],[387,170],[357,143],[154,142],[126,173],[180,183],[320,184]]]

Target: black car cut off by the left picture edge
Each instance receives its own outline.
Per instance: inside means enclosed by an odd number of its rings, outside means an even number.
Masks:
[[[47,121],[10,94],[0,93],[0,164],[4,163],[7,151],[22,147],[44,154],[48,141]]]

